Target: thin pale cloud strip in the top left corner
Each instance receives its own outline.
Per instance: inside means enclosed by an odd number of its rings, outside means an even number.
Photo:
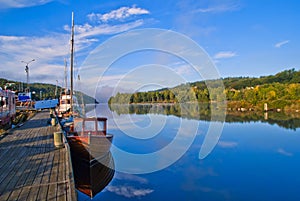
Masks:
[[[24,8],[47,4],[54,0],[0,0],[0,8]]]

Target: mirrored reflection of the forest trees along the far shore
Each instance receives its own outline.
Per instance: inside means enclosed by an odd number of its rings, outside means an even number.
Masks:
[[[185,103],[185,104],[110,104],[111,111],[117,114],[164,114],[174,115],[187,119],[197,119],[202,121],[211,120],[211,108],[214,104],[209,103]],[[217,109],[216,109],[217,110]],[[222,110],[220,110],[221,112]],[[220,117],[214,117],[217,121],[222,121]],[[284,112],[268,112],[268,118],[265,118],[263,112],[240,112],[227,111],[226,122],[266,122],[272,125],[278,125],[286,129],[300,127],[300,114],[286,114]]]

